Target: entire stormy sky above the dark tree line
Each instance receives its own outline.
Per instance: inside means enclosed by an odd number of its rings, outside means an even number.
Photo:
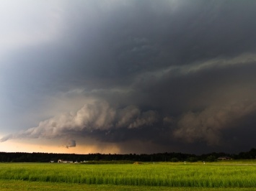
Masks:
[[[250,150],[255,9],[250,0],[1,0],[0,152]]]

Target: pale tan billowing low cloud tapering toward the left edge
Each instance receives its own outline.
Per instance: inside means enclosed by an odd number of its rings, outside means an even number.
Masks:
[[[0,141],[19,138],[53,139],[69,134],[80,134],[81,131],[89,134],[94,130],[133,129],[151,126],[156,121],[156,111],[141,111],[137,106],[118,109],[111,107],[107,101],[97,100],[85,104],[79,111],[54,116],[41,121],[36,127],[4,136]],[[76,146],[75,141],[66,146]]]

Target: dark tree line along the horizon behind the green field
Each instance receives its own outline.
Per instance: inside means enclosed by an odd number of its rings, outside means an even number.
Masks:
[[[24,152],[0,152],[0,162],[58,162],[59,159],[84,162],[84,161],[134,161],[134,162],[213,162],[219,157],[231,159],[256,159],[256,149],[239,154],[227,154],[213,152],[209,154],[184,154],[176,152],[164,152],[156,154],[55,154],[55,153],[24,153]]]

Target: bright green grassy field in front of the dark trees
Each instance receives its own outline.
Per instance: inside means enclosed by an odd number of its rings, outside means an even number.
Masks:
[[[0,163],[0,190],[256,190],[255,165]]]

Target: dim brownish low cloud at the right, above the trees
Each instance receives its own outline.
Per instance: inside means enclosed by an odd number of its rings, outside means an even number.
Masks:
[[[256,111],[256,102],[240,101],[224,106],[210,106],[201,112],[189,111],[177,121],[173,135],[188,143],[203,140],[221,145],[221,131],[234,127],[241,118]]]

